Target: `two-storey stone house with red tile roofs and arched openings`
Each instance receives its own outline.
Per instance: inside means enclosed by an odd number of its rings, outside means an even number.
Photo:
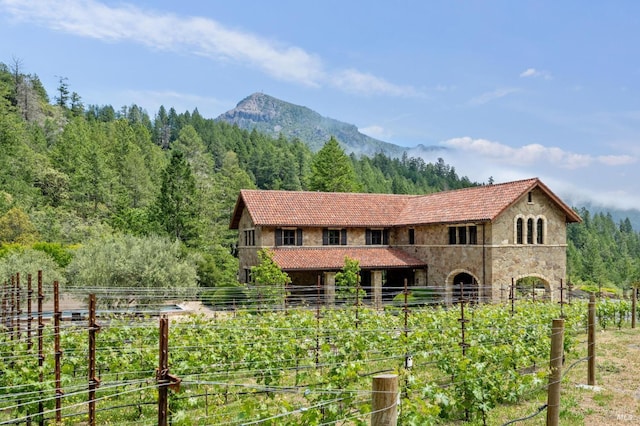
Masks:
[[[427,195],[242,190],[230,223],[238,230],[239,280],[250,282],[268,248],[291,291],[335,299],[345,256],[359,261],[375,304],[412,287],[442,301],[461,295],[497,302],[512,280],[534,277],[549,299],[566,275],[566,226],[580,217],[539,179]]]

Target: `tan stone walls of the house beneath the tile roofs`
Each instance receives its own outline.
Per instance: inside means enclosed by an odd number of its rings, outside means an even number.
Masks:
[[[385,276],[410,276],[410,285],[432,287],[448,303],[455,301],[456,285],[471,289],[471,296],[478,301],[499,302],[509,297],[512,280],[535,277],[544,287],[545,297],[558,299],[559,285],[566,275],[566,224],[579,220],[568,212],[567,206],[546,187],[534,186],[493,218],[386,227],[388,247],[406,252],[427,267],[409,269],[404,275],[370,270],[372,302],[381,303],[380,288],[385,285]],[[323,247],[323,227],[306,225],[299,229],[303,247]],[[341,229],[347,231],[349,247],[371,247],[367,245],[365,227]],[[247,230],[255,233],[253,245],[244,244]],[[275,248],[276,227],[256,226],[244,209],[238,231],[239,280],[245,282],[249,279],[246,271],[257,263],[257,251]],[[308,284],[320,276],[323,300],[333,303],[335,272],[297,271],[295,277]]]

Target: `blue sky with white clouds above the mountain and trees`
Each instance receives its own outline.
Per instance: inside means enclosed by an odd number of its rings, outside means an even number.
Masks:
[[[66,77],[214,118],[264,92],[475,181],[640,208],[637,1],[0,0],[0,40],[52,99]]]

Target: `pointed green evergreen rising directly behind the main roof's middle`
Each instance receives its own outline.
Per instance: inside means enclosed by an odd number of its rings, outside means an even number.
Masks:
[[[322,192],[357,192],[360,189],[353,163],[334,137],[313,157],[309,189]]]

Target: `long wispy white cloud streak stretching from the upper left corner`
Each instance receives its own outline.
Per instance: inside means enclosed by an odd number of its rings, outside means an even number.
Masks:
[[[420,93],[353,69],[327,70],[321,58],[301,47],[230,29],[210,18],[178,16],[131,4],[112,7],[96,0],[0,0],[0,6],[23,22],[79,37],[133,42],[151,49],[234,62],[306,86],[331,86],[366,95],[405,97]]]

